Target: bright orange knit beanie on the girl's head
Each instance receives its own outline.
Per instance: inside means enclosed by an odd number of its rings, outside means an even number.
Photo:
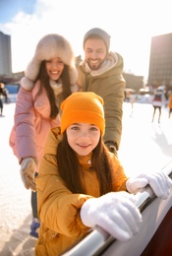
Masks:
[[[103,99],[91,92],[74,93],[61,104],[61,133],[73,123],[90,123],[96,125],[104,135],[105,120]]]

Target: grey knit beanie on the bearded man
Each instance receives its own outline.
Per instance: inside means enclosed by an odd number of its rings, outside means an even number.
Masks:
[[[88,38],[93,38],[94,36],[101,38],[104,43],[106,44],[107,51],[109,50],[110,47],[110,35],[107,32],[104,32],[101,29],[94,28],[91,29],[90,31],[86,32],[85,37],[84,37],[84,47],[85,47],[85,42]]]

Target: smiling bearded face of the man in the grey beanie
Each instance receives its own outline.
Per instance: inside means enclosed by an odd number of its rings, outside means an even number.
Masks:
[[[100,38],[88,38],[85,42],[85,60],[91,70],[98,70],[106,59],[107,49]]]

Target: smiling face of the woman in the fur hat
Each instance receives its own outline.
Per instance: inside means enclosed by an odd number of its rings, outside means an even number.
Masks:
[[[45,61],[46,72],[51,80],[57,81],[64,69],[64,63],[60,58]]]

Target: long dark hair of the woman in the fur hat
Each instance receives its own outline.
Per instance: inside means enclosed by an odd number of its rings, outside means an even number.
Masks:
[[[46,93],[47,93],[47,96],[49,99],[49,103],[51,106],[51,112],[50,112],[49,117],[51,119],[54,119],[57,116],[57,114],[59,113],[59,108],[56,105],[56,99],[54,96],[54,92],[49,83],[49,77],[48,77],[48,74],[46,72],[46,67],[45,67],[45,60],[42,61],[40,64],[39,73],[38,73],[35,81],[37,81],[37,80],[40,80],[40,90],[36,96],[41,94],[42,88],[44,88],[46,90]],[[70,77],[69,77],[69,66],[67,66],[66,64],[64,65],[64,69],[63,69],[63,72],[61,75],[61,81],[62,81],[62,98],[61,98],[61,100],[63,101],[65,98],[67,98],[68,96],[70,96],[72,94]]]

